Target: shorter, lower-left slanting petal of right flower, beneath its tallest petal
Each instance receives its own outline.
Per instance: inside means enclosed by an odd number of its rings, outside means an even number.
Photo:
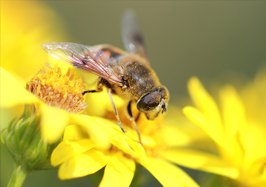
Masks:
[[[194,107],[185,107],[183,113],[190,121],[201,127],[218,145],[227,147],[228,144],[223,133],[217,131],[215,125],[211,124],[201,111]]]

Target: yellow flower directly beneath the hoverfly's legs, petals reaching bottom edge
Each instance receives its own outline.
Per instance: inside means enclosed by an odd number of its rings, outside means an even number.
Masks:
[[[56,147],[51,156],[51,164],[60,165],[60,179],[86,176],[106,166],[99,186],[129,186],[136,163],[139,163],[163,186],[198,186],[182,169],[164,157],[164,152],[168,149],[189,142],[187,136],[175,125],[167,123],[164,116],[148,120],[145,115],[140,115],[137,126],[141,134],[142,147],[137,143],[139,139],[137,132],[132,128],[132,122],[127,119],[125,101],[118,96],[114,97],[115,104],[119,106],[118,114],[122,126],[127,131],[123,134],[110,106],[107,91],[87,94],[87,97],[86,102],[90,106],[88,108],[94,108],[94,105],[90,105],[90,99],[96,99],[99,106],[105,107],[105,111],[99,113],[100,116],[94,117],[97,125],[104,127],[111,147],[103,150],[97,147],[80,127],[67,126],[63,142]],[[137,109],[132,112],[137,116]]]

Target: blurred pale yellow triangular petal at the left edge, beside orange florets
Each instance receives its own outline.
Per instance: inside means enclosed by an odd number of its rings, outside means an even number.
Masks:
[[[0,67],[1,107],[39,102],[34,95],[28,92],[10,73]]]

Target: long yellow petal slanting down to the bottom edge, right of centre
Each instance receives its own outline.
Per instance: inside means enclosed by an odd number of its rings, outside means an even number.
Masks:
[[[166,162],[162,159],[148,157],[149,165],[146,167],[148,171],[164,186],[164,187],[185,187],[180,180],[178,167],[174,164]],[[141,164],[141,163],[140,163]],[[145,167],[145,166],[144,166]],[[192,179],[190,179],[193,181]],[[191,182],[191,184],[194,182]],[[194,183],[195,187],[198,187]]]

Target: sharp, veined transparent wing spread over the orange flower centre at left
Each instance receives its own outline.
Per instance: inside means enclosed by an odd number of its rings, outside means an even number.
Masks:
[[[70,42],[47,42],[42,48],[56,59],[122,85],[119,74],[109,66],[110,57],[100,49]]]

